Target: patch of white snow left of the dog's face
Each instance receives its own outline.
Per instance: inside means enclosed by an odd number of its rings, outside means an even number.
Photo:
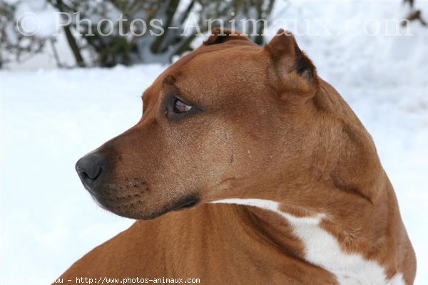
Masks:
[[[0,284],[24,273],[52,279],[131,225],[96,206],[74,164],[138,121],[139,96],[162,70],[0,72]]]

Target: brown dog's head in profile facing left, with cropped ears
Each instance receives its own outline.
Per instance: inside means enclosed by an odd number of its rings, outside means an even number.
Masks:
[[[102,207],[135,219],[278,184],[296,189],[320,175],[345,183],[339,158],[322,158],[337,136],[331,128],[343,135],[345,127],[319,120],[327,104],[319,92],[315,66],[290,33],[261,48],[217,29],[144,92],[141,120],[76,170]]]

